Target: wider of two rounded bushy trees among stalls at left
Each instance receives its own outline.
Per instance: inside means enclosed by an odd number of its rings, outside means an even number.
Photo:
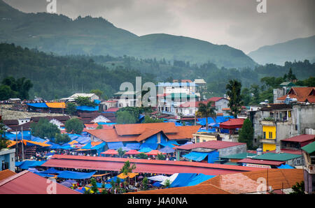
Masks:
[[[39,119],[37,123],[31,123],[31,135],[38,138],[52,139],[57,133],[60,133],[58,126],[52,124],[48,119]]]

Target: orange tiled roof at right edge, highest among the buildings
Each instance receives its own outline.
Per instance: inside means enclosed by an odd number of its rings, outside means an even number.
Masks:
[[[290,98],[296,98],[298,102],[315,103],[315,87],[292,87],[288,94]],[[285,101],[286,96],[278,98],[279,101]]]

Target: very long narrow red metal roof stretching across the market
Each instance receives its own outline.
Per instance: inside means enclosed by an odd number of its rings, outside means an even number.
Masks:
[[[261,168],[243,167],[238,165],[221,165],[186,161],[159,161],[134,158],[112,158],[94,156],[54,155],[45,162],[44,167],[78,168],[87,170],[120,171],[125,161],[136,163],[134,172],[150,172],[158,174],[174,174],[178,172],[203,174],[229,174],[235,172],[261,170]]]

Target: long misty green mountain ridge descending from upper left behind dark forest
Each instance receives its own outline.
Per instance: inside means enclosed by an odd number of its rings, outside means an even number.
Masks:
[[[0,42],[15,43],[59,55],[87,54],[138,59],[211,62],[227,68],[257,66],[241,50],[228,45],[168,34],[137,36],[115,27],[102,17],[78,17],[50,13],[22,13],[0,0]]]

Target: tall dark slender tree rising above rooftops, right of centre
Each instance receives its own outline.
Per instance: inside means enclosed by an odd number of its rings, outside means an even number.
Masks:
[[[226,85],[227,95],[230,97],[228,106],[230,107],[230,114],[237,118],[237,114],[241,112],[241,82],[237,80],[230,80]]]

